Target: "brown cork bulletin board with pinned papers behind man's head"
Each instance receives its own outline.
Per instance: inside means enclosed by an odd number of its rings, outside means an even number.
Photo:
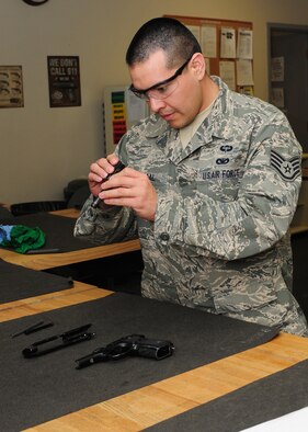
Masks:
[[[253,29],[247,21],[164,15],[181,21],[197,38],[209,75],[231,90],[253,95]]]

